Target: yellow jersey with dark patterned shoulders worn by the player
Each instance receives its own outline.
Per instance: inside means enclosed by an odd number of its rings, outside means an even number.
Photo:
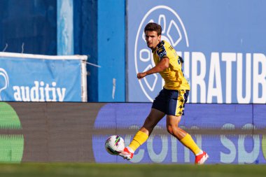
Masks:
[[[188,80],[183,75],[182,64],[176,50],[167,43],[161,41],[155,50],[153,50],[153,60],[157,65],[163,57],[169,58],[169,67],[160,72],[165,80],[164,88],[167,90],[190,90]]]

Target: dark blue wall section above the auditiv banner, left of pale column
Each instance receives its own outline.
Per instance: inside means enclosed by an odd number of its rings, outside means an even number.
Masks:
[[[56,55],[57,1],[1,0],[0,51]]]

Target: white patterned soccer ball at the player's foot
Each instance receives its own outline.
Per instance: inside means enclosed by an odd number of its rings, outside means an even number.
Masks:
[[[125,142],[121,136],[113,135],[105,141],[105,149],[111,155],[118,155],[125,148]]]

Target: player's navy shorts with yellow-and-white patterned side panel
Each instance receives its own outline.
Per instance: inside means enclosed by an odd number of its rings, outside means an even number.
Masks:
[[[152,108],[162,111],[166,115],[184,115],[188,94],[189,90],[167,90],[163,88],[153,101]]]

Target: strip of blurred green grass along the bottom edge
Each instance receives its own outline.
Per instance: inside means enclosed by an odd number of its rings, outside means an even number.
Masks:
[[[266,176],[265,165],[193,164],[88,164],[88,163],[22,163],[0,164],[0,176],[193,176],[255,177]]]

